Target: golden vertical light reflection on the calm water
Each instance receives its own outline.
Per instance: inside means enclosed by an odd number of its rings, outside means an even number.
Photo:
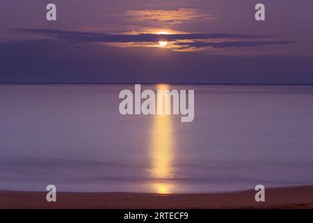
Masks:
[[[158,90],[169,89],[168,85],[157,85]],[[163,102],[164,107],[164,102]],[[151,156],[152,178],[157,183],[152,183],[152,190],[159,194],[170,194],[175,187],[169,179],[175,174],[173,169],[175,141],[172,136],[172,118],[170,115],[154,115],[152,124]]]

